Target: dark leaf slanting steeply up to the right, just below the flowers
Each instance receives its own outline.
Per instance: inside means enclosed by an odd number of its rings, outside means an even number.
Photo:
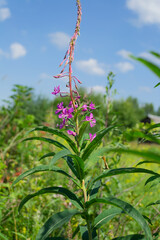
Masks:
[[[110,126],[108,128],[103,129],[102,131],[100,131],[99,133],[97,133],[97,136],[93,139],[93,141],[87,146],[87,148],[85,149],[83,155],[82,155],[82,159],[85,161],[90,154],[99,146],[99,144],[101,143],[102,138],[109,132],[111,131],[113,128],[115,128],[116,126]]]

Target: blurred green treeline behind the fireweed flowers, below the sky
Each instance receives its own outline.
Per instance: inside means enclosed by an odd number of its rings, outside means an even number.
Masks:
[[[44,96],[36,96],[34,90],[27,86],[15,85],[12,92],[10,100],[5,101],[4,106],[0,107],[1,128],[15,118],[26,120],[26,116],[32,116],[33,123],[36,125],[41,125],[47,122],[48,118],[53,117],[56,125],[59,120],[53,112],[55,112],[57,104],[63,101],[65,105],[69,102],[67,97],[56,97],[49,100]],[[97,106],[94,115],[97,123],[102,125],[105,125],[107,118],[108,125],[116,121],[126,127],[133,127],[147,114],[160,116],[160,107],[156,111],[152,103],[145,103],[142,106],[137,98],[128,97],[125,100],[107,99],[106,95],[96,92],[88,93],[84,88],[79,89],[79,94],[86,103],[92,101]]]

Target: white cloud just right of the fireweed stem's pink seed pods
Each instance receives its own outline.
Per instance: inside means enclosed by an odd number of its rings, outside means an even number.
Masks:
[[[78,69],[91,75],[103,76],[106,74],[103,69],[103,64],[98,63],[96,59],[90,58],[89,60],[79,60],[76,62]]]

